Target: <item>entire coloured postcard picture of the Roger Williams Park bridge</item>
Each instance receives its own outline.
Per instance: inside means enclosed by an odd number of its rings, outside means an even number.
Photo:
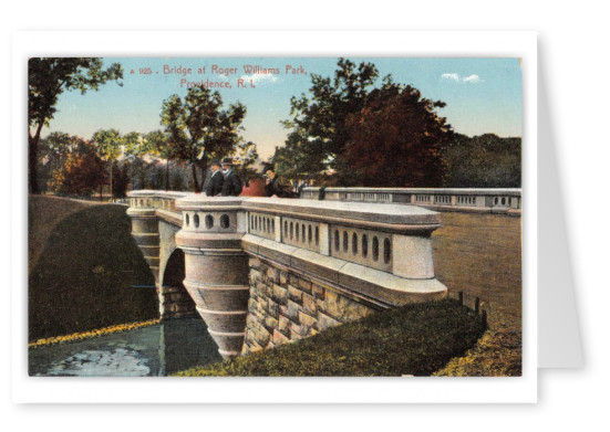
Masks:
[[[523,376],[523,60],[28,60],[28,373]]]

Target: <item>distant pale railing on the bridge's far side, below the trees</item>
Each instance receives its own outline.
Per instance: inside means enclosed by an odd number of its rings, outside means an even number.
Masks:
[[[318,199],[320,188],[304,188],[301,198]],[[520,189],[327,188],[324,200],[406,203],[440,211],[520,214]]]

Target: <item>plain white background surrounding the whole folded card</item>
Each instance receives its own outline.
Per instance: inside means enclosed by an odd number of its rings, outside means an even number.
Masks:
[[[582,0],[554,3],[515,0],[497,4],[487,1],[437,0],[435,2],[376,1],[371,3],[312,0],[306,6],[299,2],[270,1],[266,4],[236,1],[169,3],[124,2],[108,0],[84,13],[83,8],[68,2],[9,2],[0,15],[3,35],[3,67],[0,67],[2,94],[3,148],[19,149],[11,143],[13,130],[9,118],[13,115],[8,95],[12,91],[10,41],[12,32],[24,29],[525,29],[538,31],[539,63],[544,66],[546,97],[554,136],[557,167],[562,181],[564,215],[568,228],[576,305],[579,312],[585,368],[576,370],[548,370],[539,373],[539,403],[531,405],[15,405],[4,391],[2,413],[9,429],[28,428],[45,431],[82,429],[107,431],[108,424],[133,430],[177,430],[185,428],[226,429],[229,423],[248,430],[385,430],[416,428],[425,430],[494,431],[565,430],[607,424],[607,389],[610,386],[608,358],[608,247],[609,232],[604,217],[609,201],[603,199],[608,178],[610,148],[601,133],[608,122],[610,81],[607,41],[610,28],[604,3]],[[99,45],[102,45],[99,44]],[[127,48],[130,49],[130,48]],[[179,44],[174,50],[180,49]],[[135,54],[133,50],[128,54]],[[314,54],[311,50],[309,54]],[[23,91],[24,93],[24,91]],[[601,125],[601,126],[600,126]],[[545,130],[544,120],[541,129]],[[14,124],[13,124],[14,127]],[[25,129],[25,124],[20,126]],[[544,157],[544,155],[542,155]],[[0,170],[2,185],[10,186],[11,193],[25,193],[15,178],[24,166],[14,167],[13,157],[2,158]],[[12,168],[11,168],[12,164]],[[541,169],[541,168],[540,168]],[[18,171],[15,173],[15,171]],[[542,203],[540,203],[542,207]],[[546,210],[542,210],[542,213]],[[14,214],[2,213],[7,231]],[[3,274],[12,275],[25,255],[24,247],[14,249],[4,235],[2,255]],[[19,238],[19,235],[17,236]],[[14,238],[13,238],[14,239]],[[19,238],[20,239],[20,238]],[[552,243],[551,243],[552,244]],[[552,246],[541,243],[540,252]],[[21,261],[21,263],[20,263]],[[15,268],[17,267],[17,268]],[[7,281],[9,277],[7,277]],[[24,344],[14,331],[13,303],[3,302],[2,336],[11,340],[11,347]],[[544,305],[542,305],[544,307]],[[23,312],[24,313],[24,312]],[[19,324],[19,323],[18,323]],[[3,350],[2,388],[12,387],[14,370],[11,350]],[[84,389],[86,391],[86,389]],[[332,391],[332,387],[320,391]],[[252,398],[265,402],[263,392],[255,391]]]

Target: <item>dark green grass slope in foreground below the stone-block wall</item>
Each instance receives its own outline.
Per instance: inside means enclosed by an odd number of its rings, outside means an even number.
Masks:
[[[430,376],[463,355],[483,331],[479,316],[455,301],[413,304],[176,376]]]

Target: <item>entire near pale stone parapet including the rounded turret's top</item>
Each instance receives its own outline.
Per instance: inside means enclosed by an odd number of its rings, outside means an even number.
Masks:
[[[306,265],[307,261],[331,268],[351,263],[356,265],[353,272],[368,267],[399,278],[433,280],[431,233],[441,226],[438,214],[421,207],[384,202],[394,197],[391,193],[361,197],[376,201],[208,198],[192,192],[143,190],[130,192],[128,212],[132,217],[156,214],[196,235],[244,234],[246,252],[263,254],[286,265]],[[343,270],[348,268],[349,265]],[[375,275],[372,273],[371,277]]]

